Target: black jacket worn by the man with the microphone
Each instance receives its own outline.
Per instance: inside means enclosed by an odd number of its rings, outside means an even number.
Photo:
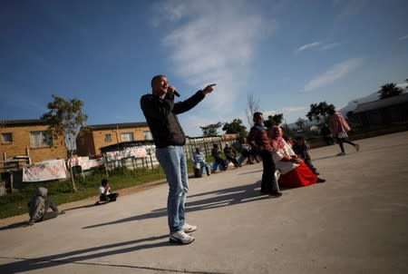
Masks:
[[[176,115],[189,111],[204,97],[202,91],[198,91],[189,99],[174,103],[172,93],[166,93],[163,99],[153,94],[141,96],[141,110],[149,124],[156,147],[163,148],[186,143],[186,136]]]

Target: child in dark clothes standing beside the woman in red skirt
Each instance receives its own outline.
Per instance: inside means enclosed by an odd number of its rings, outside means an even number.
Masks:
[[[263,172],[260,193],[276,197],[282,196],[275,176],[276,168],[272,158],[272,146],[267,137],[267,129],[263,126],[263,114],[254,113],[253,121],[255,124],[249,131],[248,143],[262,158]]]

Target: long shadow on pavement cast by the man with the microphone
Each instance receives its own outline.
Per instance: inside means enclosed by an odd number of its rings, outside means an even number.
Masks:
[[[139,240],[129,240],[124,242],[112,243],[103,245],[100,247],[94,247],[84,250],[73,250],[51,256],[44,256],[33,259],[25,258],[7,258],[0,257],[1,259],[15,259],[16,261],[0,265],[1,273],[18,273],[24,271],[31,271],[35,269],[47,269],[58,265],[74,263],[83,265],[98,265],[98,266],[113,266],[113,267],[126,267],[133,269],[152,269],[152,270],[169,270],[169,269],[156,269],[143,266],[123,266],[112,265],[105,263],[95,263],[85,261],[89,259],[100,259],[102,257],[118,255],[127,252],[134,252],[137,250],[155,249],[163,246],[176,246],[169,242],[169,235],[162,235],[157,237],[150,237]],[[166,241],[162,241],[162,240]],[[153,242],[160,240],[159,242]]]

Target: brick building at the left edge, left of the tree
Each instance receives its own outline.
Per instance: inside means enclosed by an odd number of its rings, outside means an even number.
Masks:
[[[48,125],[39,119],[0,120],[0,168],[4,161],[39,162],[66,159],[63,136],[52,139]]]

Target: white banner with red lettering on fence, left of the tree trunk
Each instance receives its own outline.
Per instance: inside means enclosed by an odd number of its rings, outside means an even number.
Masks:
[[[23,168],[23,181],[49,181],[66,177],[67,170],[63,159],[41,161]]]

